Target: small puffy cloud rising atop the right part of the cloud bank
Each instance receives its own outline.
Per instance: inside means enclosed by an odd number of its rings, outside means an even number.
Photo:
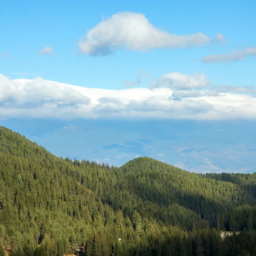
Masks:
[[[151,84],[151,88],[167,87],[177,90],[201,89],[207,87],[209,80],[202,74],[184,75],[178,72],[168,73],[161,76],[156,84]]]

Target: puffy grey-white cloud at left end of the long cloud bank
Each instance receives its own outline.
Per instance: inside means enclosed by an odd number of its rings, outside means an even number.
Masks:
[[[80,104],[89,105],[90,98],[63,84],[46,81],[41,77],[33,80],[10,80],[0,74],[0,105],[5,108],[40,108],[46,104],[57,107]]]

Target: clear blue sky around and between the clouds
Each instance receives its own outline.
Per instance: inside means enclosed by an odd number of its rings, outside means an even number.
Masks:
[[[256,1],[3,1],[0,8],[0,73],[84,87],[123,89],[140,70],[156,80],[170,72],[204,73],[213,84],[255,86],[256,56],[240,61],[203,63],[203,56],[229,54],[256,46]],[[86,32],[118,12],[142,13],[153,26],[176,35],[218,32],[223,44],[127,51],[113,55],[82,54],[78,41]],[[52,55],[40,55],[44,47]],[[8,52],[8,54],[6,54]],[[76,54],[74,54],[76,53]],[[14,74],[40,73],[40,74]],[[142,76],[137,87],[148,87]]]

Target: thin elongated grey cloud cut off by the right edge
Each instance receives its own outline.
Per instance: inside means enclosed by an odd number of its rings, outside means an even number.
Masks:
[[[256,56],[256,47],[248,47],[241,51],[236,51],[229,54],[214,54],[204,56],[202,61],[204,63],[218,63],[218,62],[231,62],[231,61],[241,61],[246,56]]]

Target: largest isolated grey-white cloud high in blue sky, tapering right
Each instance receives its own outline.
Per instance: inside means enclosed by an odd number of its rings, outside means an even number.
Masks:
[[[153,26],[141,13],[120,12],[87,31],[79,41],[79,48],[85,54],[108,55],[120,47],[145,52],[154,48],[197,47],[223,41],[224,36],[220,33],[214,38],[202,32],[170,34]]]

